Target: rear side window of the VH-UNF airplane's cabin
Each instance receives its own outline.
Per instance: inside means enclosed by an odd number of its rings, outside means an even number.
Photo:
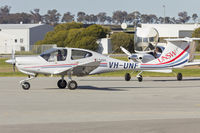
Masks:
[[[83,50],[72,50],[72,60],[84,59],[91,57],[92,53]]]

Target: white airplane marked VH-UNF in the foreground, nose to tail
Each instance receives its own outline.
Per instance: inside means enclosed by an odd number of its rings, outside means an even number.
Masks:
[[[168,39],[168,45],[157,59],[147,63],[127,62],[113,59],[99,53],[79,49],[79,48],[52,48],[41,55],[30,57],[14,57],[7,60],[17,69],[28,75],[27,79],[20,81],[22,88],[28,90],[30,83],[27,81],[37,77],[38,74],[60,75],[61,79],[57,82],[59,88],[76,89],[77,83],[71,76],[85,76],[112,72],[117,70],[166,70],[181,68],[188,63],[190,43],[193,39]],[[68,82],[64,79],[68,76]]]

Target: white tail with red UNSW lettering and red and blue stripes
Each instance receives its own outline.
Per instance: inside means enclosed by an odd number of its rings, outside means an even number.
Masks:
[[[188,63],[190,57],[190,43],[200,38],[166,39],[167,46],[161,56],[155,60],[140,64],[140,68],[179,68]]]

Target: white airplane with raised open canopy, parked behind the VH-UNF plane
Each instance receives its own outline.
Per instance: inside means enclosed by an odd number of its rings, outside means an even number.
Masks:
[[[196,38],[197,39],[197,38]],[[180,40],[181,41],[181,40]],[[169,43],[169,42],[168,42]],[[184,42],[180,42],[184,43]],[[125,48],[120,47],[121,50],[128,56],[129,60],[133,60],[138,63],[147,63],[149,61],[159,58],[164,51],[167,43],[159,42],[159,33],[155,28],[136,28],[136,33],[134,34],[134,53],[130,53]],[[191,48],[190,54],[194,52],[194,48]],[[192,61],[193,56],[190,56],[189,61]],[[150,72],[161,72],[161,73],[172,73],[172,69],[163,70],[148,70]],[[142,82],[142,73],[139,72],[136,76],[139,82]],[[129,81],[131,75],[129,73],[125,74],[125,80]],[[177,80],[182,80],[182,73],[177,74]]]

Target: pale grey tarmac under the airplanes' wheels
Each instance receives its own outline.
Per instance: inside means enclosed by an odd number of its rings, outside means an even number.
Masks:
[[[199,133],[200,78],[74,78],[76,90],[58,89],[59,77],[0,77],[1,133]]]

